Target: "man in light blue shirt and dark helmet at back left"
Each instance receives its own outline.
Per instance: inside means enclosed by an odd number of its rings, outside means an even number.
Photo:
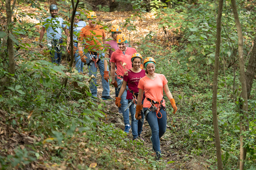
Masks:
[[[65,28],[66,25],[62,18],[58,16],[58,6],[55,4],[50,5],[51,16],[44,20],[43,27],[40,33],[40,43],[39,46],[43,48],[41,43],[44,32],[46,29],[47,33],[47,46],[51,49],[50,54],[52,57],[52,63],[60,64],[61,61],[61,44],[62,44],[62,29],[65,31],[66,35],[69,36],[68,29]]]

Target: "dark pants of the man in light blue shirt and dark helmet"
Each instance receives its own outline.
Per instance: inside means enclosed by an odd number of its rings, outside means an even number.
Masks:
[[[51,41],[52,47],[51,47],[50,55],[52,58],[52,63],[57,63],[58,65],[60,64],[60,60],[61,60],[61,45],[60,44],[62,44],[62,39],[61,40],[54,39]]]

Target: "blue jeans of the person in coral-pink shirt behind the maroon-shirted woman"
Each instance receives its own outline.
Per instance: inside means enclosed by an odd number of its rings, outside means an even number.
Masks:
[[[119,84],[121,84],[121,79],[117,79],[117,85],[119,86]],[[118,89],[118,94],[121,88]],[[123,95],[121,96],[121,108],[122,108],[122,113],[123,113],[123,117],[124,117],[124,125],[130,125],[130,121],[129,121],[129,109],[127,109],[126,111],[125,108],[128,106],[128,100],[126,99],[126,95],[127,95],[127,90],[124,91]]]

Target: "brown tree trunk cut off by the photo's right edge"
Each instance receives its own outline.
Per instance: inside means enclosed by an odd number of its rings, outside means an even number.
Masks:
[[[255,43],[256,43],[256,37],[254,38],[254,41],[253,41],[252,53],[249,58],[247,71],[245,72],[247,99],[250,98],[254,75],[256,73],[256,44]]]

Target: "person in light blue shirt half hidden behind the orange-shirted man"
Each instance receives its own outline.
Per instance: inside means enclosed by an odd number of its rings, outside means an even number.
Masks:
[[[81,14],[78,11],[76,11],[76,15],[74,18],[73,41],[74,41],[74,52],[76,51],[77,53],[78,53],[77,37],[79,37],[79,32],[81,31],[81,29],[86,26],[86,23],[82,21],[80,18],[81,18]],[[68,27],[68,29],[70,28]],[[68,45],[69,45],[69,41],[70,41],[70,37],[68,38]],[[69,46],[67,46],[67,51],[69,52],[68,48]],[[78,73],[80,72],[83,73],[84,63],[81,61],[81,57],[77,53],[75,53],[76,69]]]

